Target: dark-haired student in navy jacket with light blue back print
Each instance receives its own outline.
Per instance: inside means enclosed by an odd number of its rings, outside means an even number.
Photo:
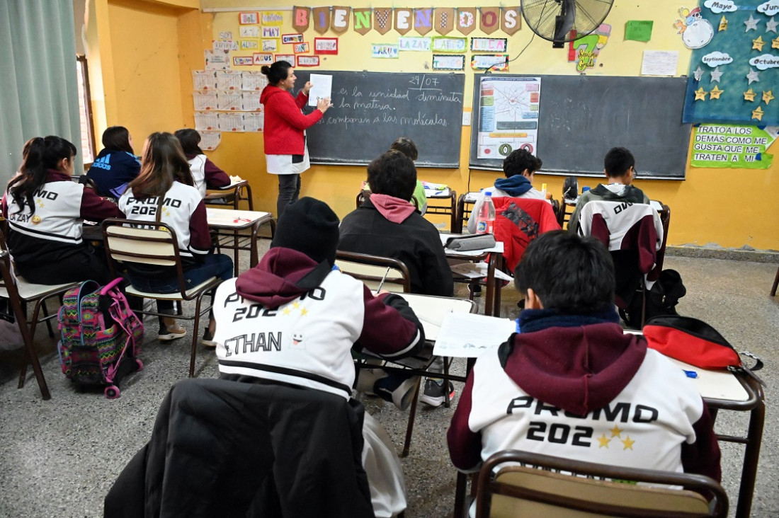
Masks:
[[[95,157],[86,176],[95,182],[97,194],[118,198],[140,170],[130,132],[124,126],[111,126],[103,132],[103,150]]]

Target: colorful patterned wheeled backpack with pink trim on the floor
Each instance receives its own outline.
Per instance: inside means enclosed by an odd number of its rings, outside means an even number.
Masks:
[[[61,340],[57,344],[62,372],[83,385],[106,386],[108,399],[119,396],[120,379],[139,371],[143,322],[118,289],[119,277],[100,287],[86,280],[65,292],[59,310]]]

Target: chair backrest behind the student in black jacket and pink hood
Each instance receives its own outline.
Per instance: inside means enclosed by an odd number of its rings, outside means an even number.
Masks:
[[[372,291],[378,290],[381,285],[382,290],[411,292],[408,267],[398,259],[339,250],[336,252],[336,266],[342,272],[361,280]]]

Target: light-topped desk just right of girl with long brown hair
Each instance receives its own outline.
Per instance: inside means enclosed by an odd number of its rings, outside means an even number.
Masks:
[[[259,263],[257,253],[257,232],[264,224],[270,224],[270,235],[276,233],[276,221],[270,212],[255,210],[212,209],[206,207],[206,220],[208,227],[216,231],[220,247],[230,248],[234,251],[233,269],[238,276],[238,251],[249,250],[249,267],[253,268]],[[249,229],[249,245],[242,241],[247,236],[241,231]],[[222,238],[232,238],[222,239]]]

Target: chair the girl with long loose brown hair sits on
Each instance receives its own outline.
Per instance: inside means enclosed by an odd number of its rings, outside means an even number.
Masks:
[[[137,225],[142,224],[142,227]],[[126,226],[125,226],[126,225]],[[135,227],[130,225],[136,225]],[[151,298],[157,301],[196,301],[194,315],[175,315],[177,319],[193,320],[192,329],[192,354],[189,359],[189,377],[195,375],[195,356],[199,340],[198,330],[200,317],[207,313],[213,305],[213,290],[222,282],[217,277],[211,277],[202,284],[187,288],[182,268],[182,258],[178,252],[178,240],[173,228],[164,223],[155,221],[133,221],[111,218],[103,222],[103,242],[105,252],[108,255],[108,263],[111,266],[111,275],[117,276],[114,261],[122,263],[139,263],[156,266],[171,266],[175,270],[178,279],[178,291],[175,293],[151,293],[136,290],[129,286],[126,289],[128,295],[140,298]],[[211,295],[211,304],[203,307],[203,296]],[[158,312],[136,310],[143,315],[162,315]]]

